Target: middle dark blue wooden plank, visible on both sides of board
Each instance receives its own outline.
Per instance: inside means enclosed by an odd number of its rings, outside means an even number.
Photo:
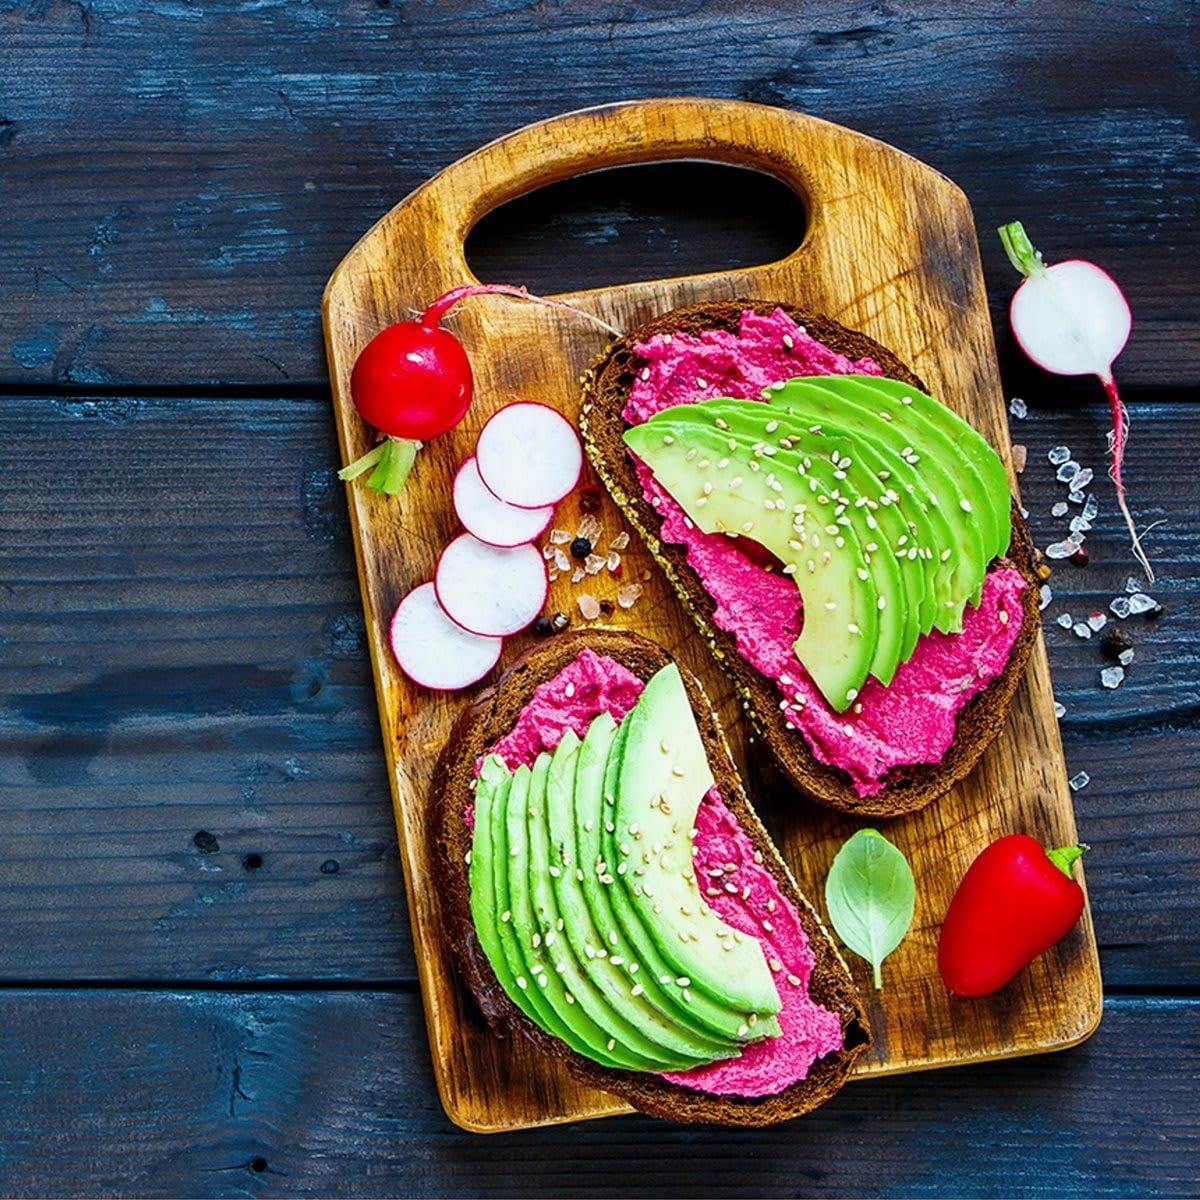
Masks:
[[[1062,524],[1045,450],[1099,467],[1103,412],[1026,395],[1044,544]],[[328,402],[2,403],[0,977],[412,979]],[[1096,640],[1048,640],[1068,763],[1092,775],[1076,811],[1105,978],[1195,985],[1200,408],[1132,415],[1168,612],[1129,626],[1117,692]],[[1121,588],[1111,503],[1090,545],[1056,569],[1051,614]]]

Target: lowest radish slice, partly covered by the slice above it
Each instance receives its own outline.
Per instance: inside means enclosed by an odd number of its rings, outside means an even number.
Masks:
[[[391,618],[391,653],[413,683],[454,691],[482,679],[500,656],[502,637],[481,637],[455,624],[438,604],[432,583],[400,601]]]

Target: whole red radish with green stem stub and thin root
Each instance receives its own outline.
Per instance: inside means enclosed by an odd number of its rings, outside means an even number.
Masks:
[[[470,360],[462,343],[439,322],[468,296],[506,295],[565,308],[618,334],[606,322],[562,300],[544,300],[524,288],[503,283],[469,283],[438,296],[415,320],[402,320],[378,332],[350,372],[350,398],[359,415],[384,440],[337,473],[358,479],[371,468],[367,486],[395,496],[403,488],[422,442],[454,428],[474,394]]]

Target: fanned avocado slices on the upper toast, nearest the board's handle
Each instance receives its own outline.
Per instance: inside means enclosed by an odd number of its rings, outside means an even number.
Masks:
[[[1008,478],[970,425],[895,380],[800,377],[764,400],[676,406],[625,443],[698,528],[784,563],[804,599],[796,655],[842,712],[920,635],[962,628],[1008,548]]]

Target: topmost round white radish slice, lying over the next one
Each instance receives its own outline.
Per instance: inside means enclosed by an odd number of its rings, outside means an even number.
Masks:
[[[557,504],[580,481],[583,450],[562,413],[520,401],[484,426],[475,462],[487,490],[518,509]]]

